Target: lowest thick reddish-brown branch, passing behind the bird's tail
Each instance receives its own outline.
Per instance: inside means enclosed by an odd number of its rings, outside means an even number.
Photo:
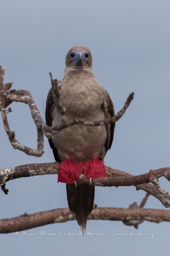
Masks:
[[[150,221],[160,223],[170,221],[170,211],[159,209],[123,209],[113,207],[97,207],[88,217],[89,220],[110,221]],[[52,223],[73,220],[69,208],[59,208],[34,214],[23,214],[15,218],[0,220],[0,233],[11,233],[28,230]]]

